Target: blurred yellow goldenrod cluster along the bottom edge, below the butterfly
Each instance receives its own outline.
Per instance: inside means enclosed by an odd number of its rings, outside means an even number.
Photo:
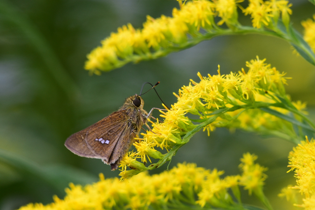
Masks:
[[[196,164],[185,163],[160,174],[150,176],[141,173],[122,182],[117,178],[105,179],[100,174],[97,183],[84,187],[70,184],[63,200],[54,196],[54,203],[46,206],[28,204],[20,210],[241,208],[239,186],[246,186],[247,190],[260,188],[266,177],[263,174],[265,168],[254,164],[254,160],[255,156],[244,154],[241,160],[244,173],[225,178],[220,177],[223,171],[206,170]],[[249,169],[253,166],[257,167]],[[252,184],[253,177],[260,179],[255,182],[256,185]],[[236,197],[238,202],[232,197]]]

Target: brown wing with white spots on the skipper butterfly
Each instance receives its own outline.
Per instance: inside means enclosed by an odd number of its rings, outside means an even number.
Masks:
[[[124,111],[113,112],[88,128],[72,134],[65,146],[78,156],[99,158],[107,164],[115,162],[116,157],[111,156],[119,139],[130,141],[128,119]]]

